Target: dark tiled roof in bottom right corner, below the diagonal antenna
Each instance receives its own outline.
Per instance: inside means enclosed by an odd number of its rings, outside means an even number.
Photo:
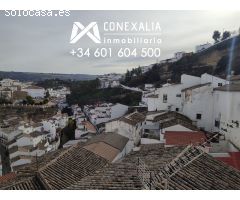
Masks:
[[[203,154],[169,180],[169,189],[240,189],[240,171]]]

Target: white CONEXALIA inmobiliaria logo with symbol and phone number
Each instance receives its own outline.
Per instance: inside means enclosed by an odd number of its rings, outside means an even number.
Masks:
[[[100,36],[101,34],[101,36]],[[86,48],[86,38],[95,43]],[[70,53],[77,57],[156,57],[160,56],[161,26],[159,22],[73,22],[70,44],[81,45]],[[85,46],[85,48],[84,48]]]

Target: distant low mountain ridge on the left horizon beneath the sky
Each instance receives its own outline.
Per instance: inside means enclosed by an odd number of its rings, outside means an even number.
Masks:
[[[97,75],[89,74],[55,74],[55,73],[34,73],[34,72],[5,72],[0,71],[0,79],[10,78],[19,81],[33,81],[39,82],[48,79],[59,79],[59,80],[93,80],[97,78]]]

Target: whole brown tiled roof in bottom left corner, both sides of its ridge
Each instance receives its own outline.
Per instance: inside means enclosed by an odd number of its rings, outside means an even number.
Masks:
[[[25,165],[17,171],[15,180],[0,189],[64,189],[103,168],[107,163],[106,159],[77,144]]]

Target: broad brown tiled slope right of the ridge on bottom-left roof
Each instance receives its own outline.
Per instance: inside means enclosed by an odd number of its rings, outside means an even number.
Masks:
[[[106,164],[106,159],[78,144],[39,169],[39,178],[47,189],[64,189]]]

